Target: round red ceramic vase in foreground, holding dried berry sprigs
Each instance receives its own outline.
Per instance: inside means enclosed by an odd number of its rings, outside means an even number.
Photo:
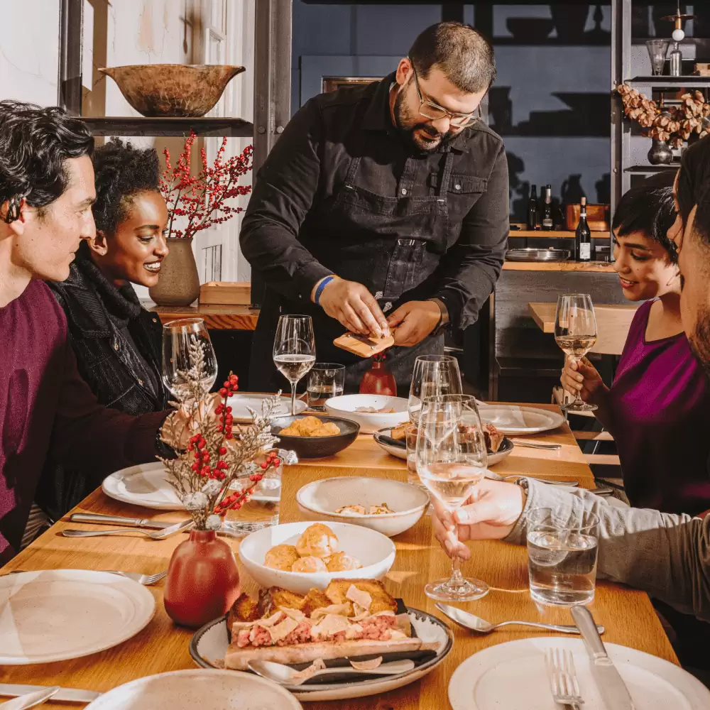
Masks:
[[[180,626],[199,628],[222,616],[241,591],[231,547],[214,530],[190,530],[175,547],[165,577],[165,611]]]

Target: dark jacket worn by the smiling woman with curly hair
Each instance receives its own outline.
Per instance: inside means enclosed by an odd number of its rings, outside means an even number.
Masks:
[[[99,403],[130,415],[165,410],[160,319],[141,307],[131,285],[119,289],[111,284],[84,246],[69,278],[48,285],[67,317],[77,369]],[[101,481],[90,467],[68,470],[48,461],[37,502],[56,519]]]

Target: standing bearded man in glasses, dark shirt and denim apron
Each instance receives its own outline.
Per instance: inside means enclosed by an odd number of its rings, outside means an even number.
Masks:
[[[427,28],[396,72],[305,104],[258,173],[241,249],[266,280],[251,388],[283,385],[270,358],[278,316],[311,315],[318,356],[346,364],[357,388],[367,361],[333,345],[343,329],[393,329],[388,365],[408,386],[442,329],[475,322],[508,239],[503,142],[478,119],[496,76],[473,28]],[[387,317],[386,315],[387,314]]]

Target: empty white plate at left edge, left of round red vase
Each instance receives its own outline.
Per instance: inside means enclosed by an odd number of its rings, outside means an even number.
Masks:
[[[155,599],[126,577],[48,569],[0,577],[0,665],[50,663],[111,648],[153,618]]]

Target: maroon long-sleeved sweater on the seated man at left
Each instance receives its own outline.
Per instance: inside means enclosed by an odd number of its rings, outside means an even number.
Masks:
[[[164,419],[97,403],[47,285],[0,307],[0,564],[18,550],[45,458],[99,474],[152,461]]]

